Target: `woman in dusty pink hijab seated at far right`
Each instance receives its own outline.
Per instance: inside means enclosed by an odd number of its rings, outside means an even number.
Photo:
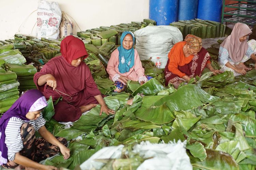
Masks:
[[[236,23],[231,35],[229,35],[219,48],[219,64],[222,71],[232,71],[234,76],[246,74],[251,70],[244,62],[252,58],[256,61],[253,49],[247,44],[247,36],[252,33],[244,23]]]

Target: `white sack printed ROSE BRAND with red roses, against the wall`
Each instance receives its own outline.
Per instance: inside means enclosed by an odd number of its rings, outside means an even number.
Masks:
[[[61,10],[58,2],[40,0],[37,9],[37,37],[59,38]]]

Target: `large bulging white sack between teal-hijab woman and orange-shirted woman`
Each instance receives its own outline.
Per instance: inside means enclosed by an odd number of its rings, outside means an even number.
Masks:
[[[172,26],[147,26],[134,32],[136,37],[136,50],[140,60],[148,60],[154,63],[160,58],[160,69],[165,68],[168,53],[174,44],[183,40],[179,29]]]

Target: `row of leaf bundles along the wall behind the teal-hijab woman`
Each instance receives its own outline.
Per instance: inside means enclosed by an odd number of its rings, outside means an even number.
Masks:
[[[144,19],[143,22],[120,23],[110,27],[101,26],[100,28],[93,28],[86,31],[77,32],[77,36],[82,38],[85,44],[93,44],[101,46],[105,42],[112,42],[115,45],[120,45],[120,37],[124,31],[134,32],[146,26],[156,25],[156,21],[151,19]]]

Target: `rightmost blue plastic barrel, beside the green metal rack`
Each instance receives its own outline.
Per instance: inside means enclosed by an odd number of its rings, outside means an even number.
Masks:
[[[221,22],[223,0],[198,0],[197,18]]]

